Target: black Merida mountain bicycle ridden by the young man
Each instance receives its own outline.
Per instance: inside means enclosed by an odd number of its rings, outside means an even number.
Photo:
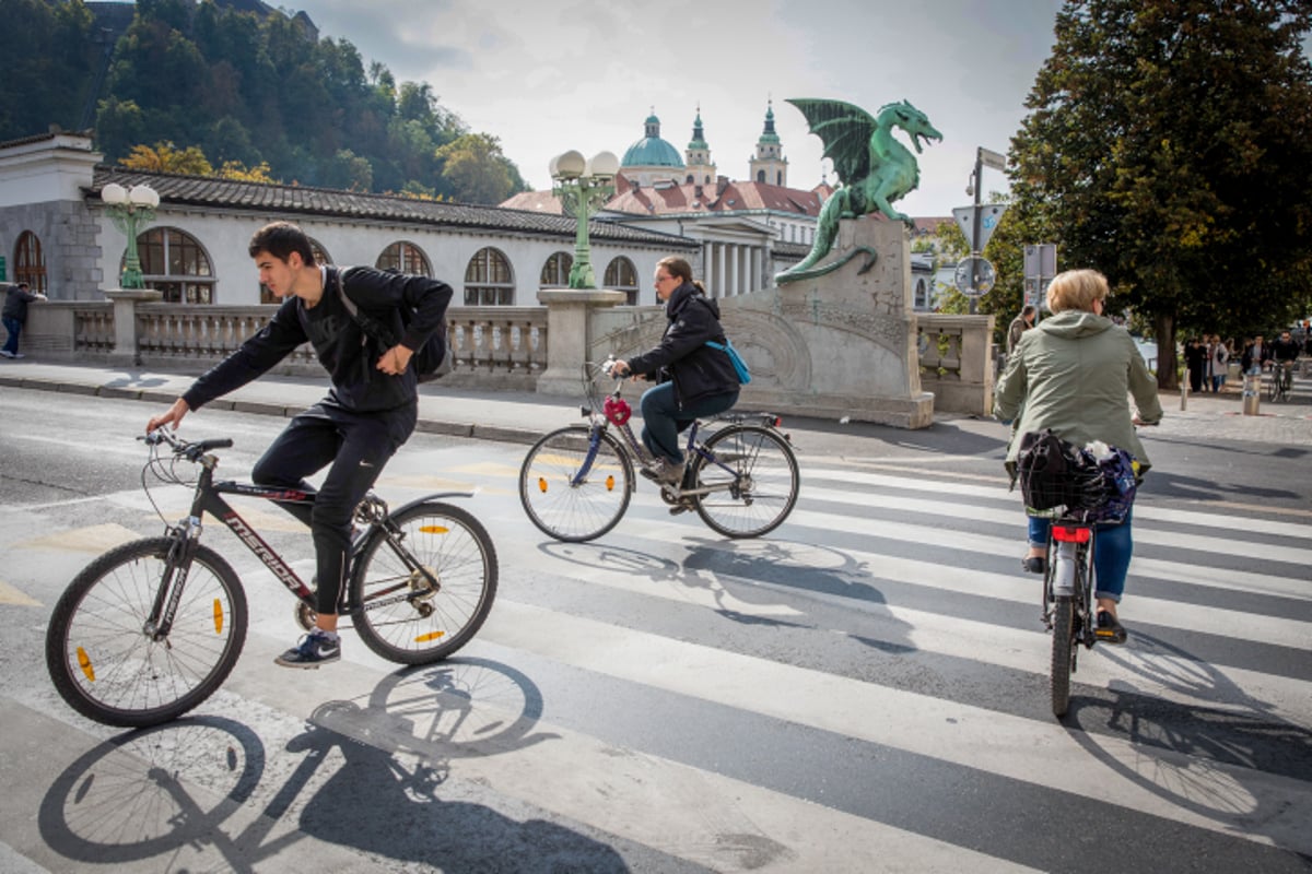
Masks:
[[[161,428],[144,439],[142,487],[164,520],[161,536],[117,546],[73,578],[55,604],[46,667],[55,689],[83,715],[142,727],[176,719],[213,694],[237,662],[247,598],[232,566],[201,544],[206,514],[222,522],[297,598],[302,628],[315,624],[315,592],[223,495],[314,504],[315,494],[215,481],[215,449],[230,439],[188,443]],[[194,484],[178,465],[198,465]],[[190,511],[169,523],[147,476],[194,486]],[[428,664],[464,646],[483,625],[497,588],[492,539],[470,512],[430,494],[390,510],[370,493],[356,507],[346,607],[365,645],[391,662]]]

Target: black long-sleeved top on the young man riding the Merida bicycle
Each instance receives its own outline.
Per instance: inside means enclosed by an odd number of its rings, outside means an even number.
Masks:
[[[354,413],[392,410],[413,404],[419,397],[415,368],[400,376],[383,373],[375,366],[387,351],[350,317],[328,267],[324,295],[307,309],[300,297],[287,297],[260,333],[247,339],[226,359],[210,368],[182,394],[193,410],[216,397],[241,388],[268,372],[298,346],[308,342],[315,356],[332,377],[332,390],[324,402]],[[387,325],[394,337],[409,349],[419,349],[446,318],[451,287],[428,276],[384,273],[371,267],[342,271],[346,294],[356,305]],[[400,308],[415,313],[407,325]]]

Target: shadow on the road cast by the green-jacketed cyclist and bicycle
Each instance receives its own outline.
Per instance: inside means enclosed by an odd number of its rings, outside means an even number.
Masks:
[[[1225,831],[1312,853],[1312,730],[1282,718],[1224,674],[1144,633],[1099,653],[1144,680],[1072,698],[1064,719],[1096,760]],[[1206,704],[1162,697],[1160,689]],[[1128,742],[1128,743],[1124,743]]]

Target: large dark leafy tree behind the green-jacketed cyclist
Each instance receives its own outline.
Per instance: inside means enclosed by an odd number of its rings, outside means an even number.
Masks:
[[[1312,303],[1305,0],[1067,0],[1012,143],[1013,194],[1063,262],[1178,330],[1288,324]]]

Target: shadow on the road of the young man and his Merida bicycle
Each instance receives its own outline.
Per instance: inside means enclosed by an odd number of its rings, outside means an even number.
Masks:
[[[67,858],[138,871],[253,871],[283,852],[295,854],[290,869],[306,852],[324,856],[321,844],[298,846],[307,837],[440,870],[628,870],[604,835],[447,785],[455,759],[555,738],[537,729],[541,713],[533,681],[499,662],[408,668],[359,700],[319,706],[283,734],[282,753],[261,739],[278,734],[277,719],[256,732],[201,715],[106,740],[55,780],[38,824]]]

